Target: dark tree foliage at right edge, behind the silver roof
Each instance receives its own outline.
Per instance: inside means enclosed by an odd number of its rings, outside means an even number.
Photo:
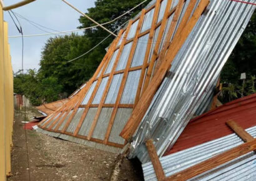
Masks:
[[[240,80],[240,74],[246,73],[245,82]],[[221,73],[224,84],[222,102],[229,102],[243,95],[255,93],[256,76],[256,12],[254,12],[242,37],[235,46],[229,60]]]

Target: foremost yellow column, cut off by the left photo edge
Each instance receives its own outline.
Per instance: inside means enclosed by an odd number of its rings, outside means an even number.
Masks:
[[[0,3],[0,180],[6,180],[5,124],[4,124],[4,27]]]

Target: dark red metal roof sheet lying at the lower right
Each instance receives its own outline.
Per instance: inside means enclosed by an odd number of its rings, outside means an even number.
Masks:
[[[219,139],[234,132],[225,125],[234,120],[244,129],[256,125],[256,94],[234,100],[190,120],[172,149],[165,155]]]

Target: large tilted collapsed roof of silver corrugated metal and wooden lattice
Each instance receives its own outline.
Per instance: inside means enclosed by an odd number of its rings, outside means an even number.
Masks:
[[[252,2],[252,1],[249,1]],[[149,162],[210,104],[220,71],[255,6],[230,0],[154,0],[119,31],[94,76],[39,131]]]

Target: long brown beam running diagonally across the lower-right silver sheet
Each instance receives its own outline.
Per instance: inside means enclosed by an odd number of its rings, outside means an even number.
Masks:
[[[208,170],[219,167],[222,164],[225,164],[231,160],[234,160],[242,155],[248,154],[256,149],[256,139],[253,139],[250,142],[239,145],[234,149],[230,149],[227,152],[219,154],[215,157],[212,157],[200,164],[189,167],[189,169],[182,170],[181,172],[167,177],[165,180],[187,180],[191,179],[197,175],[203,174]]]

